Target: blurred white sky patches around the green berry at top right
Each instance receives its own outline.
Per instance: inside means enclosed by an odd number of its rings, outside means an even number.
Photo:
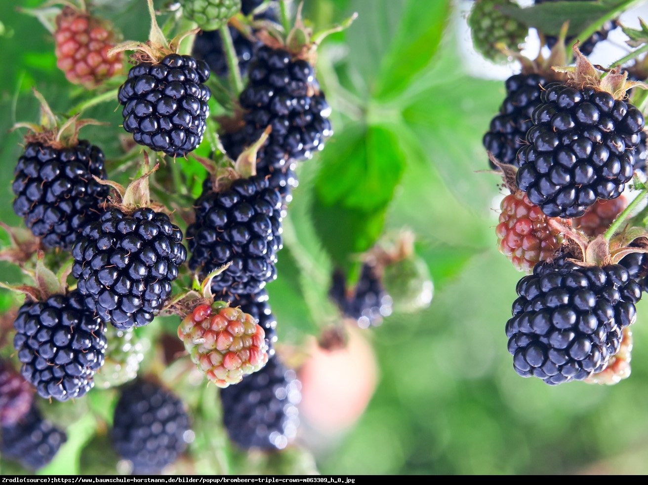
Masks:
[[[467,17],[470,12],[470,7],[473,2],[470,0],[456,0],[457,8],[454,13],[454,23],[456,25],[456,32],[459,38],[459,51],[461,52],[461,61],[465,70],[472,76],[484,79],[506,79],[511,74],[520,71],[520,64],[518,62],[511,62],[507,65],[497,65],[485,60],[478,54],[474,47],[472,47],[472,39],[470,38],[470,28],[468,27]],[[533,0],[518,0],[522,6],[529,6],[533,4]],[[621,23],[627,27],[639,27],[638,17],[648,19],[648,3],[636,6],[628,10],[621,16]],[[625,54],[631,51],[626,45],[625,40],[627,36],[623,34],[620,28],[616,28],[608,36],[607,41],[597,44],[594,52],[590,56],[590,60],[594,64],[608,65]],[[522,54],[533,59],[537,56],[538,49],[540,48],[540,39],[538,38],[535,29],[529,30],[527,42]]]

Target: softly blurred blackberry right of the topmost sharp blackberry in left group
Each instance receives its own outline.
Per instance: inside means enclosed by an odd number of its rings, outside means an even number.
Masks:
[[[233,159],[257,141],[268,126],[272,126],[272,133],[259,151],[259,160],[275,168],[309,159],[315,150],[324,148],[333,133],[330,106],[319,90],[312,66],[305,60],[292,60],[283,49],[260,47],[239,101],[246,110],[245,126],[222,136]]]

